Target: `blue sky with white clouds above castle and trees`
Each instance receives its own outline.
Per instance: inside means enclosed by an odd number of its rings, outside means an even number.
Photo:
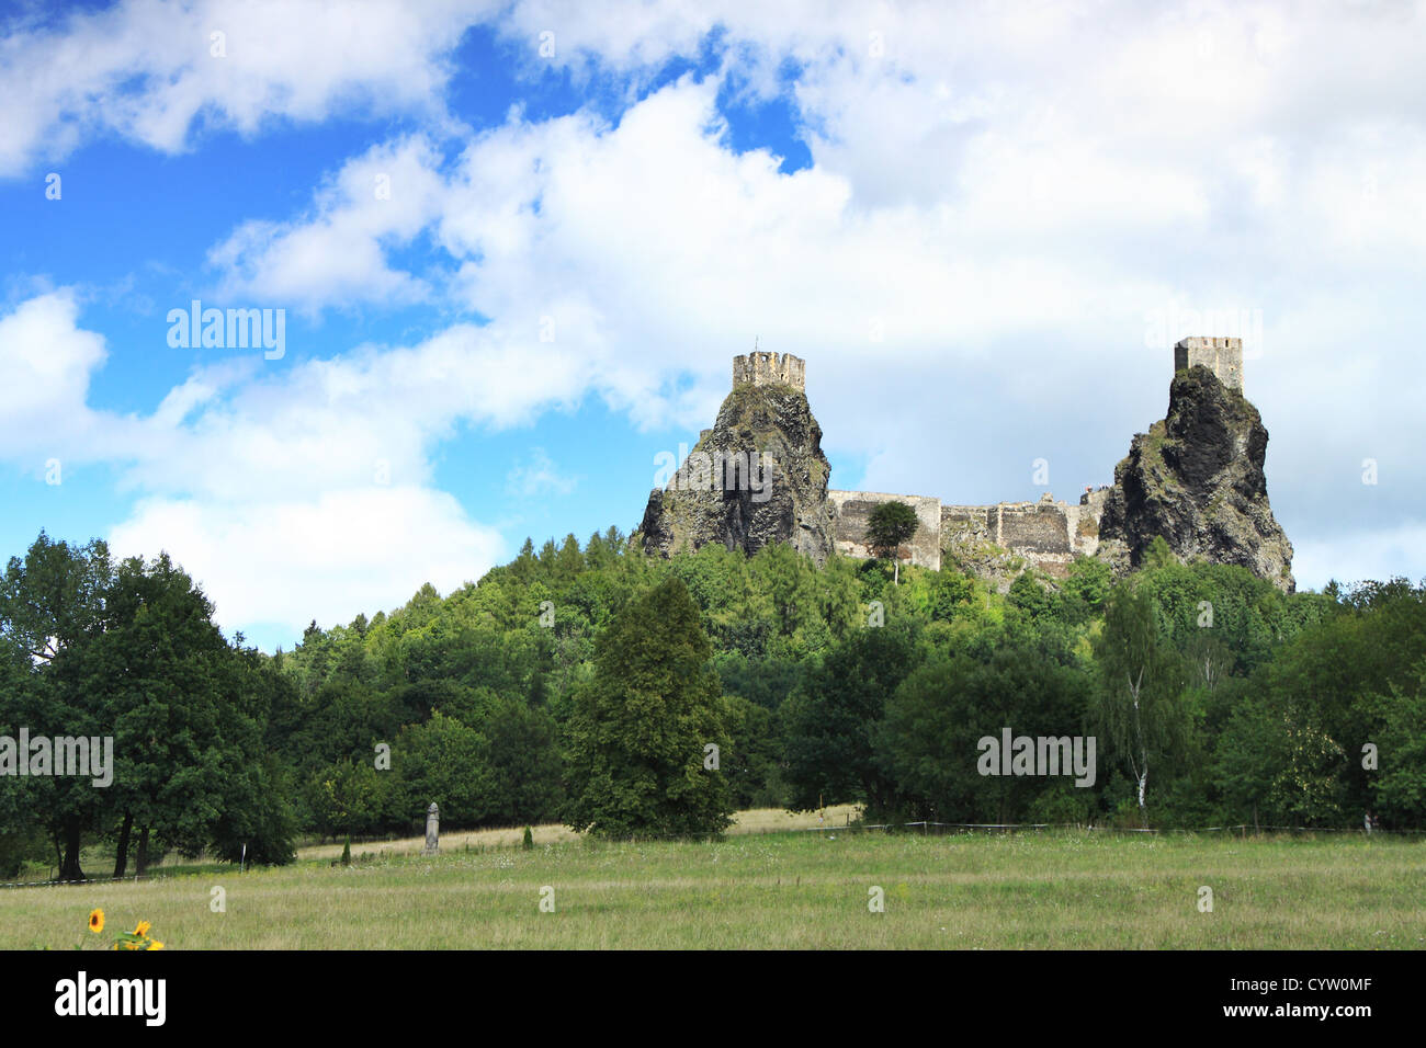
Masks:
[[[291,647],[633,530],[754,341],[831,486],[980,503],[1231,335],[1299,587],[1420,579],[1422,70],[1419,3],[0,6],[0,556]]]

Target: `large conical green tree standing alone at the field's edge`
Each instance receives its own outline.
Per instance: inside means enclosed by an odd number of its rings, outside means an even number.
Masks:
[[[710,834],[732,823],[722,684],[699,609],[679,579],[630,603],[599,639],[568,724],[565,821],[609,836]]]

